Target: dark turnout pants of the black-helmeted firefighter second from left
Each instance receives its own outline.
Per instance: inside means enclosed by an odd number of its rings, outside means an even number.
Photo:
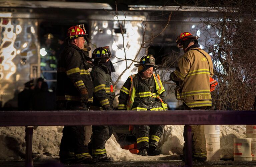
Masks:
[[[92,126],[92,156],[106,154],[105,144],[113,131],[114,126]]]

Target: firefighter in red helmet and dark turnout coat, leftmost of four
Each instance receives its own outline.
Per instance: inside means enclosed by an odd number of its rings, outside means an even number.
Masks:
[[[62,51],[57,68],[56,101],[59,110],[88,110],[93,101],[93,83],[84,51],[83,25],[67,31],[68,45]],[[64,126],[60,143],[60,160],[64,163],[91,163],[88,151],[91,126]]]

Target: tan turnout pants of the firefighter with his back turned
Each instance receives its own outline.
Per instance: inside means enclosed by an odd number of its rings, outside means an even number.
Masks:
[[[185,110],[204,110],[206,107],[189,108],[185,106]],[[187,148],[187,128],[191,126],[192,134],[192,157],[197,160],[206,160],[206,142],[204,134],[204,125],[185,125],[183,137],[185,140],[183,154],[186,155]]]

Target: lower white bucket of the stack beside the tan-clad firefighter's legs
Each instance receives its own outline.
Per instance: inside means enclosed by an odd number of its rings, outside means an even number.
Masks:
[[[220,160],[220,138],[206,138],[207,161]]]

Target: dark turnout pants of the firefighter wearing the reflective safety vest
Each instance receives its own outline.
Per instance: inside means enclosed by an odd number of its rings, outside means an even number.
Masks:
[[[137,148],[157,148],[160,137],[164,132],[164,125],[134,125],[137,137]]]

